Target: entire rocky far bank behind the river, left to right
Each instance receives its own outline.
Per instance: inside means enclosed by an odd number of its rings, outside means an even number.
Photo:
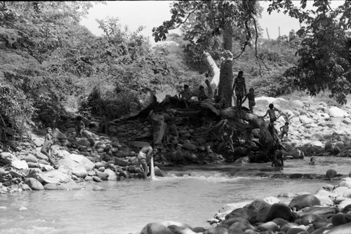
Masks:
[[[350,106],[330,106],[326,102],[315,102],[307,98],[286,100],[282,98],[259,97],[256,99],[254,113],[263,116],[267,106],[273,103],[277,109],[289,116],[289,137],[283,143],[287,151],[286,159],[301,159],[305,156],[340,156],[347,157],[351,151]],[[34,130],[12,151],[0,152],[0,193],[13,193],[29,189],[78,189],[79,184],[104,180],[121,180],[125,178],[141,178],[142,173],[137,165],[136,153],[140,144],[152,140],[154,126],[150,121],[128,121],[110,126],[109,134],[98,130],[98,120],[86,119],[86,130],[82,138],[76,138],[74,132],[74,116],[62,116],[65,125],[54,130],[58,139],[53,155],[59,168],[54,170],[48,164],[46,156],[40,153],[44,142],[44,131]],[[172,116],[169,123],[175,127],[178,137],[172,133],[167,135],[168,143],[155,156],[155,172],[158,176],[164,173],[161,167],[186,164],[223,163],[235,159],[236,163],[249,163],[259,158],[263,152],[258,151],[258,132],[245,142],[235,144],[234,153],[224,158],[219,153],[225,145],[223,135],[213,135],[208,131],[213,123],[204,120]],[[278,118],[276,128],[284,125],[284,118]],[[206,132],[206,134],[204,133]],[[213,150],[212,150],[213,149]],[[237,176],[238,172],[233,172]],[[258,172],[263,177],[265,172]],[[271,177],[279,177],[270,173]],[[286,177],[284,174],[282,177]],[[291,178],[340,177],[331,170],[328,174],[291,174]]]

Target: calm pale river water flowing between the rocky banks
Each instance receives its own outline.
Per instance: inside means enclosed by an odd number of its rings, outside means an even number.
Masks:
[[[351,158],[286,160],[279,173],[349,174]],[[269,164],[196,165],[164,169],[166,177],[87,183],[77,191],[22,191],[0,195],[0,233],[138,233],[147,223],[180,221],[192,227],[206,222],[227,203],[252,201],[279,193],[315,193],[339,180],[267,179]],[[228,176],[241,171],[240,176]],[[94,186],[106,191],[93,191]],[[279,198],[287,202],[288,198]],[[284,200],[286,199],[286,200]]]

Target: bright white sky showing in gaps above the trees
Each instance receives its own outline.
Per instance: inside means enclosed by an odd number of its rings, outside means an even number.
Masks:
[[[107,4],[95,5],[89,11],[88,17],[81,21],[81,25],[86,26],[93,34],[100,36],[102,30],[98,28],[95,19],[103,20],[107,17],[119,18],[119,22],[123,26],[128,26],[131,31],[135,31],[140,26],[144,26],[143,35],[149,36],[150,41],[154,44],[152,38],[152,27],[157,27],[165,20],[171,18],[169,11],[170,4],[173,1],[106,1]],[[313,1],[310,1],[312,5]],[[300,1],[296,1],[298,4]],[[333,4],[338,6],[343,1],[333,0]],[[266,28],[270,34],[270,39],[276,39],[280,35],[289,35],[291,29],[297,31],[300,28],[298,20],[290,18],[283,13],[273,12],[271,15],[267,13],[269,1],[261,1],[264,7],[262,18],[258,20],[260,27],[264,29],[263,37],[267,39]],[[333,5],[332,4],[332,5]],[[175,31],[170,31],[175,32]]]

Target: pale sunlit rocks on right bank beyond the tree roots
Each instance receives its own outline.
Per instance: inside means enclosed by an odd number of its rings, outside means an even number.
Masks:
[[[270,103],[289,117],[289,137],[283,139],[286,158],[351,156],[350,104],[331,106],[311,97],[303,100],[258,97],[254,113],[265,115]],[[275,128],[279,131],[285,122],[283,117],[278,118]],[[253,131],[253,137],[259,137],[258,130]]]

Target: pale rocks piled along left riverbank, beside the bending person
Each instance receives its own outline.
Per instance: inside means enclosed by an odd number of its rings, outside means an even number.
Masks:
[[[79,189],[88,181],[143,178],[135,151],[119,143],[117,137],[97,135],[88,129],[83,138],[75,137],[74,128],[67,128],[66,134],[53,131],[58,139],[52,149],[58,170],[40,152],[44,135],[33,133],[15,151],[0,150],[0,193],[70,190]],[[164,176],[157,165],[155,174]]]

